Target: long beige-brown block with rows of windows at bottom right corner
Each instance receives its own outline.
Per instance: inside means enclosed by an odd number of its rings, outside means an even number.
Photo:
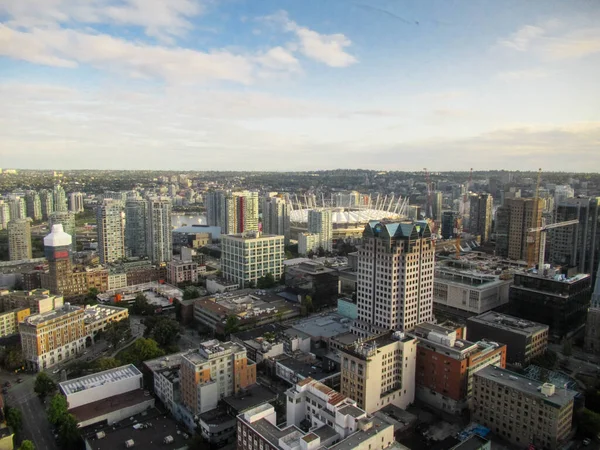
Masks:
[[[577,392],[497,367],[475,374],[471,420],[525,448],[562,448]],[[531,447],[530,447],[531,448]]]

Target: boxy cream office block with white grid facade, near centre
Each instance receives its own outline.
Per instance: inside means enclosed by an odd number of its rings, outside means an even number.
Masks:
[[[283,275],[283,236],[249,232],[221,237],[223,278],[241,288],[256,285],[267,274],[279,280]]]

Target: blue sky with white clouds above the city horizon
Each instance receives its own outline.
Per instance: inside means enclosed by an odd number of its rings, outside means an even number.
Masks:
[[[596,0],[0,0],[0,167],[600,171]]]

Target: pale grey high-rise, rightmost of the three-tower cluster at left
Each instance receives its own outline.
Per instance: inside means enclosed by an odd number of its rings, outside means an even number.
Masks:
[[[173,257],[171,200],[165,197],[148,199],[147,217],[148,257],[153,263],[171,261]]]

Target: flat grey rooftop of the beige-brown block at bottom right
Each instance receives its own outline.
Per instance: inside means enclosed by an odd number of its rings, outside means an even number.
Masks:
[[[576,391],[555,386],[554,395],[546,397],[544,394],[542,394],[541,390],[538,389],[543,383],[534,380],[533,378],[527,378],[521,374],[495,366],[487,366],[478,371],[475,376],[490,380],[493,383],[501,384],[502,386],[516,389],[530,396],[537,397],[543,402],[551,403],[558,407],[567,405],[577,395]]]

